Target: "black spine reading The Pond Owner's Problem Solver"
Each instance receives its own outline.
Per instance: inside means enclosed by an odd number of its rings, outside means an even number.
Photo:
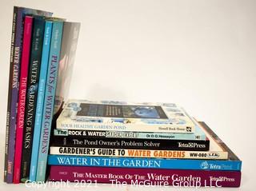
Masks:
[[[53,146],[91,147],[110,149],[159,149],[159,150],[187,150],[207,151],[210,141],[193,140],[158,140],[139,138],[95,138],[95,137],[60,137],[54,136]]]

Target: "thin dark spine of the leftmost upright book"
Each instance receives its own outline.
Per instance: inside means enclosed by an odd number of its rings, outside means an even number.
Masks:
[[[8,172],[8,148],[9,148],[9,135],[10,135],[10,107],[11,107],[11,90],[14,76],[14,39],[16,33],[16,21],[17,21],[17,7],[14,6],[13,23],[11,32],[11,43],[10,43],[10,71],[9,71],[9,88],[8,88],[8,101],[7,101],[7,113],[6,113],[6,144],[5,144],[5,166],[4,166],[4,181],[7,181]],[[11,168],[12,169],[12,168]],[[10,182],[8,182],[10,183]]]

